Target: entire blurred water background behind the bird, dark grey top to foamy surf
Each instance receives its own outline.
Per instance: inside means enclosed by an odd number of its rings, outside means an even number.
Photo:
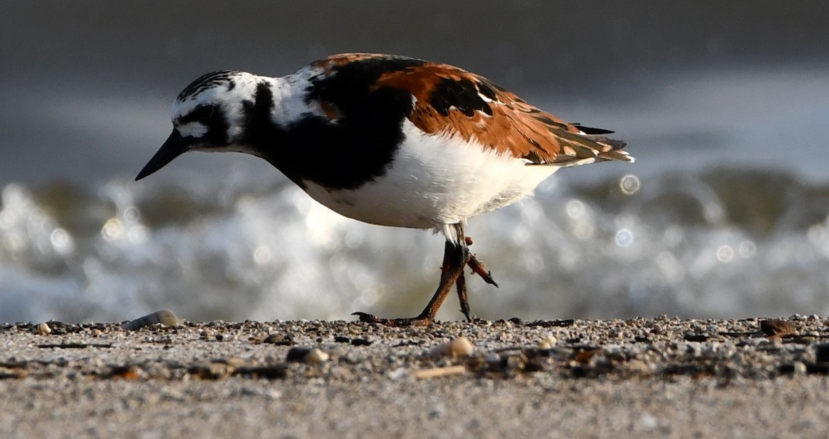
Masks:
[[[0,321],[419,312],[441,237],[243,154],[133,182],[196,76],[342,51],[463,66],[637,157],[473,218],[501,285],[468,281],[474,314],[829,314],[827,2],[2,2],[0,41]]]

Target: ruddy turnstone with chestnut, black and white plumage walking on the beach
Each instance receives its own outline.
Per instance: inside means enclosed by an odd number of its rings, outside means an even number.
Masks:
[[[446,238],[440,284],[410,319],[429,324],[453,285],[471,320],[463,269],[492,276],[468,250],[469,217],[526,197],[560,168],[633,162],[612,133],[568,124],[458,67],[404,56],[347,53],[280,78],[216,71],[187,85],[172,134],[135,179],[187,151],[267,160],[346,217],[434,229]]]

